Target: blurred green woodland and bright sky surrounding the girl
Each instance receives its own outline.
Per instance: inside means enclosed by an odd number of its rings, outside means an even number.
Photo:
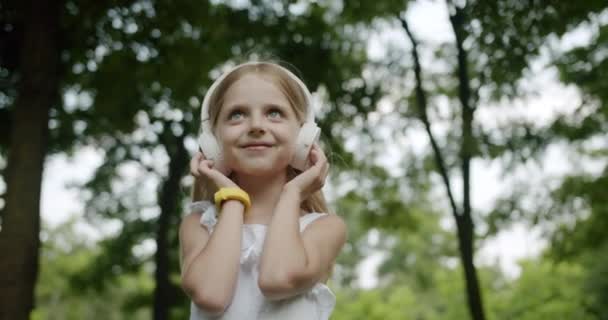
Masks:
[[[185,319],[199,106],[317,102],[332,319],[608,319],[608,4],[0,1],[0,319]]]

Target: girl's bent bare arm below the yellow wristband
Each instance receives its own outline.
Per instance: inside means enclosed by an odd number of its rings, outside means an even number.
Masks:
[[[228,200],[214,231],[209,235],[199,223],[200,214],[189,214],[179,230],[181,284],[192,301],[210,314],[220,314],[232,301],[241,254],[242,203]]]

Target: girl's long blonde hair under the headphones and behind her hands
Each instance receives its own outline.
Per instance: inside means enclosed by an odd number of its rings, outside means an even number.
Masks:
[[[289,101],[300,124],[304,123],[304,119],[308,112],[307,108],[309,107],[306,103],[306,93],[302,90],[300,85],[283,70],[283,67],[277,63],[267,61],[239,67],[228,74],[223,81],[218,84],[217,88],[210,96],[209,119],[211,119],[212,130],[215,130],[217,117],[224,102],[226,91],[243,76],[251,73],[262,76],[276,84]],[[287,170],[287,178],[289,180],[293,179],[299,173],[298,170],[292,167],[288,167]],[[217,187],[209,179],[204,177],[195,179],[192,187],[192,200],[213,201],[213,195],[216,191]],[[329,213],[327,201],[321,190],[313,193],[302,201],[300,207],[308,212]]]

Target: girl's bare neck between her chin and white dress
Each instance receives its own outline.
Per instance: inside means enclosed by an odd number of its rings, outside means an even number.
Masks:
[[[239,174],[235,181],[249,194],[251,208],[245,223],[268,224],[281,197],[287,174],[272,176],[245,176]]]

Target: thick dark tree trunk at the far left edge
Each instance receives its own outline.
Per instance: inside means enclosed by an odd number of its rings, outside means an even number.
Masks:
[[[0,231],[0,320],[29,319],[34,307],[40,188],[49,110],[58,101],[59,87],[60,1],[32,1],[22,7],[21,80],[11,119]]]

